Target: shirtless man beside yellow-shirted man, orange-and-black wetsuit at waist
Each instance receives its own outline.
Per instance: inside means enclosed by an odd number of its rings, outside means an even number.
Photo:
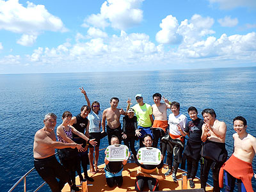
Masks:
[[[160,102],[161,99],[164,100],[164,103]],[[171,106],[169,100],[164,97],[162,98],[160,93],[155,93],[153,95],[153,100],[155,104],[152,105],[152,115],[154,116],[154,124],[152,125],[154,139],[152,147],[157,147],[160,138],[160,148],[162,148],[161,138],[164,136],[166,128],[168,127],[167,109],[170,109]]]

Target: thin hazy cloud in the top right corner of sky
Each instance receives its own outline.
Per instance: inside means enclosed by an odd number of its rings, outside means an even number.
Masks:
[[[236,7],[256,8],[255,0],[208,0],[210,3],[220,4],[221,10],[231,10]]]

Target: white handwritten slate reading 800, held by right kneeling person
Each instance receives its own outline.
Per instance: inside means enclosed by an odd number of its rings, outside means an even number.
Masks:
[[[160,164],[161,151],[154,147],[142,147],[138,150],[140,164]]]

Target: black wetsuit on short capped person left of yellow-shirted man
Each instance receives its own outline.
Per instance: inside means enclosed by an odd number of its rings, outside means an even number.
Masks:
[[[133,156],[136,158],[136,150],[134,147],[135,143],[135,130],[137,129],[137,117],[133,116],[129,118],[129,116],[123,117],[123,132],[127,135],[127,138],[124,139],[124,145],[131,149]]]

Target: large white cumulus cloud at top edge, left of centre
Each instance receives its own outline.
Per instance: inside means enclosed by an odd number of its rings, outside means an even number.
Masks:
[[[140,9],[144,0],[107,0],[97,15],[92,14],[84,20],[83,26],[92,25],[95,28],[112,28],[125,30],[140,24],[143,11]]]

